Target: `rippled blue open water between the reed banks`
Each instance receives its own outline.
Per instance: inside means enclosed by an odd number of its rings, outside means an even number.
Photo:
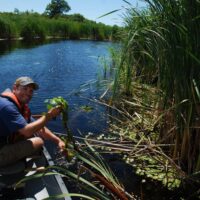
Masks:
[[[100,58],[108,58],[109,42],[93,41],[54,41],[41,45],[25,46],[0,43],[0,91],[12,88],[16,78],[32,77],[40,86],[30,103],[33,114],[46,111],[45,99],[62,96],[69,103],[69,127],[75,135],[105,131],[107,119],[105,108],[83,98],[100,95],[95,81],[102,72]],[[86,84],[87,83],[87,84]],[[93,84],[92,84],[93,83]],[[83,85],[87,85],[83,87]],[[91,112],[80,107],[89,105]],[[59,119],[48,126],[63,132]]]

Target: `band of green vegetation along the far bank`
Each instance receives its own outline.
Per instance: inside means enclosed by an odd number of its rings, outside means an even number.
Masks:
[[[45,38],[116,40],[121,28],[84,18],[80,14],[51,17],[35,12],[0,13],[0,38],[33,41]]]

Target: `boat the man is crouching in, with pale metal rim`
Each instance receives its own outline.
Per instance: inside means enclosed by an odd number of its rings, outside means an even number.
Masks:
[[[46,147],[40,155],[27,158],[26,161],[19,161],[12,166],[0,168],[0,199],[35,199],[42,200],[48,197],[61,194],[69,194],[62,176],[58,173],[31,178],[19,184],[24,178],[31,175],[41,174],[41,171],[48,166],[53,166],[54,162]],[[71,200],[70,196],[59,199]]]

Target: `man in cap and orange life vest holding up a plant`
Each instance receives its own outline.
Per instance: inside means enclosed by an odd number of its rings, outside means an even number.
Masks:
[[[40,151],[44,141],[50,139],[60,150],[64,142],[45,125],[61,112],[60,107],[49,110],[33,120],[27,106],[38,84],[29,77],[18,78],[12,91],[6,90],[0,97],[0,167],[7,166]]]

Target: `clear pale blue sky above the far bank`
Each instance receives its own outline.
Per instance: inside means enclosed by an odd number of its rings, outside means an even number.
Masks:
[[[80,13],[85,18],[107,25],[123,25],[123,16],[128,4],[123,0],[66,0],[71,10],[68,14]],[[133,7],[144,7],[142,0],[127,0]],[[51,0],[0,0],[0,12],[31,11],[43,13]],[[113,10],[118,12],[99,18]]]

